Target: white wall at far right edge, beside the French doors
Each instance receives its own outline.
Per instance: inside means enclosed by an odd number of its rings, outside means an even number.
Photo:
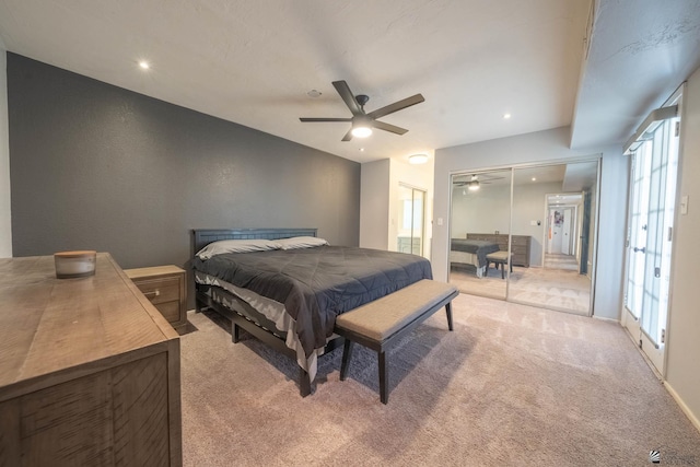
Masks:
[[[679,194],[689,197],[689,207],[676,222],[666,383],[700,430],[700,70],[688,80],[684,104]]]

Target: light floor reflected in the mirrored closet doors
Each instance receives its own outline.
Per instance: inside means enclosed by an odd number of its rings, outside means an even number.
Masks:
[[[505,300],[506,280],[492,267],[488,276],[479,279],[475,267],[453,265],[450,282],[464,293]],[[591,280],[576,270],[514,266],[508,294],[510,301],[585,315],[591,302]]]

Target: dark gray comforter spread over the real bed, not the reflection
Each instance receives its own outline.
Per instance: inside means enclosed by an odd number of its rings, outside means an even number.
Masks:
[[[306,357],[325,346],[338,314],[432,279],[420,256],[348,246],[195,257],[192,267],[282,303]]]

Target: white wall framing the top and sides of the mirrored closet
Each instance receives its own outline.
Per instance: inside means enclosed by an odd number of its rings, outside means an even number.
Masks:
[[[603,155],[598,264],[593,313],[597,317],[619,319],[625,260],[626,199],[628,160],[622,148],[571,150],[569,127],[537,131],[435,151],[435,201],[432,264],[435,279],[447,280],[450,249],[450,174],[459,171],[497,168],[524,163],[568,162],[572,159]],[[440,225],[442,219],[443,225]]]

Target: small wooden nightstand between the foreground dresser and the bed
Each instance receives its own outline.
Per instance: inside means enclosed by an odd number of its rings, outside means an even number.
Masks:
[[[155,266],[125,269],[124,272],[155,305],[171,326],[182,334],[187,324],[185,271],[177,266]]]

